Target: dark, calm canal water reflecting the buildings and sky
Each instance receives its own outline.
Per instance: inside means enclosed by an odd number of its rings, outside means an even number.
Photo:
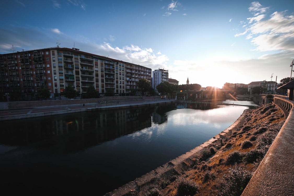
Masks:
[[[212,138],[245,109],[173,104],[2,121],[1,192],[103,195]]]

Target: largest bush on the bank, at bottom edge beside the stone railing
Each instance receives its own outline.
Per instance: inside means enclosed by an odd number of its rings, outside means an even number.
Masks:
[[[229,173],[225,174],[216,185],[219,196],[241,195],[244,188],[252,177],[251,171],[229,168]]]

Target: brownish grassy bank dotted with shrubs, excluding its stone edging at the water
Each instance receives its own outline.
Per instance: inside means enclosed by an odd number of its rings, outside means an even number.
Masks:
[[[241,195],[284,121],[274,104],[250,109],[197,156],[126,195]]]

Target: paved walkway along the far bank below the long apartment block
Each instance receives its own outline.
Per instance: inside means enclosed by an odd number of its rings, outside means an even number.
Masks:
[[[116,109],[116,108],[128,108],[132,106],[143,105],[156,105],[158,103],[173,102],[175,99],[146,99],[138,101],[124,101],[124,102],[106,102],[106,103],[88,103],[88,104],[75,104],[75,105],[59,105],[59,106],[46,106],[35,107],[16,110],[0,110],[1,120],[13,120],[21,118],[32,118],[38,116],[84,112],[99,109]]]

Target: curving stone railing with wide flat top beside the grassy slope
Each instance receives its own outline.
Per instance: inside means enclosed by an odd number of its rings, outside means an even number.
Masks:
[[[241,196],[294,195],[294,102],[275,96],[274,103],[290,113]]]

